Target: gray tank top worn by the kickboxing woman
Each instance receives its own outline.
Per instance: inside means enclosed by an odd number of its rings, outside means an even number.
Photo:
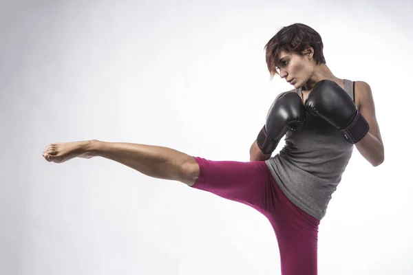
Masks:
[[[354,101],[354,83],[352,92],[352,82],[344,80],[344,89]],[[301,89],[295,91],[302,98]],[[287,131],[285,142],[282,150],[267,159],[266,164],[286,197],[321,220],[354,145],[346,142],[326,120],[309,113],[301,129]]]

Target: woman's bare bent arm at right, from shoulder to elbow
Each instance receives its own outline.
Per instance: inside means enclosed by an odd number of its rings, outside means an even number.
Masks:
[[[370,126],[367,135],[357,142],[356,148],[372,166],[379,166],[384,161],[384,147],[376,119],[372,89],[363,81],[357,81],[355,86],[359,111]]]

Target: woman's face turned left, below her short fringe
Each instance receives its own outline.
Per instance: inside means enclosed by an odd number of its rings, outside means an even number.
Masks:
[[[310,54],[310,56],[312,55]],[[300,56],[292,52],[280,52],[277,66],[279,76],[286,78],[286,81],[295,89],[302,87],[314,72],[310,56],[308,54]]]

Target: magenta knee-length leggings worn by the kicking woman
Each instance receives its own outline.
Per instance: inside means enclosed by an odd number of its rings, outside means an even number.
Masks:
[[[265,162],[195,160],[200,176],[193,188],[244,203],[267,217],[277,237],[282,275],[317,274],[319,219],[284,195]]]

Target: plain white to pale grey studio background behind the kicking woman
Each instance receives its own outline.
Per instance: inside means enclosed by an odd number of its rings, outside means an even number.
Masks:
[[[248,161],[292,88],[269,80],[264,45],[297,22],[337,77],[370,84],[385,144],[377,168],[354,148],[320,224],[319,274],[413,274],[413,6],[381,2],[1,0],[0,274],[281,274],[253,208],[41,153],[98,139]]]

